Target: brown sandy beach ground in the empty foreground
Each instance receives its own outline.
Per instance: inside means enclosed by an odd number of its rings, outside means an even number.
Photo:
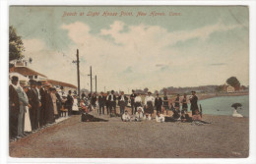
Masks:
[[[108,118],[108,116],[103,116]],[[245,158],[249,119],[204,115],[210,125],[191,123],[81,122],[81,116],[10,143],[11,157]]]

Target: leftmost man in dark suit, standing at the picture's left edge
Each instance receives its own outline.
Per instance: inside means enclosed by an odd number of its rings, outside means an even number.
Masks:
[[[9,85],[9,138],[18,136],[18,117],[20,112],[20,101],[16,91],[18,77],[12,77]]]

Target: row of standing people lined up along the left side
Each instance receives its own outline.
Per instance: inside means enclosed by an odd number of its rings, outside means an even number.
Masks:
[[[19,81],[16,76],[9,82],[9,138],[25,137],[43,129],[55,120],[72,114],[74,99],[71,91],[67,96],[48,82]]]

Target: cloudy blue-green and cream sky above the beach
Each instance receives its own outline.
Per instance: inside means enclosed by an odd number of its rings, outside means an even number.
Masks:
[[[122,11],[133,16],[120,17]],[[165,16],[150,16],[154,11]],[[49,79],[77,85],[72,60],[79,49],[82,88],[90,87],[90,66],[98,90],[223,84],[231,76],[249,84],[244,6],[10,7],[10,26],[23,38],[26,59],[32,57],[29,67]]]

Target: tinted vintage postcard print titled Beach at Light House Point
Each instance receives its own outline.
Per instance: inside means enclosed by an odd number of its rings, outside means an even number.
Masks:
[[[13,158],[247,158],[248,6],[10,6]]]

